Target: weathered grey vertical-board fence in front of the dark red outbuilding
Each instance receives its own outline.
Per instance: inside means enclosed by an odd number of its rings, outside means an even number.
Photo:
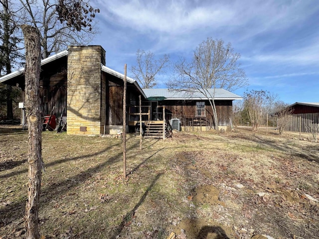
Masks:
[[[307,132],[305,125],[319,123],[319,113],[296,114],[288,117],[287,131]]]

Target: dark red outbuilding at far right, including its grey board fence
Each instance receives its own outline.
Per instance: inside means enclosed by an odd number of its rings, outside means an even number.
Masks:
[[[286,130],[307,132],[307,126],[319,124],[319,103],[296,102],[287,108],[292,109]]]

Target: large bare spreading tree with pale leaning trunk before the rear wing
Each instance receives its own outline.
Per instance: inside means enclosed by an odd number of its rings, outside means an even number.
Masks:
[[[181,59],[174,65],[174,77],[166,83],[168,89],[188,93],[202,93],[212,108],[215,129],[218,118],[215,89],[233,91],[247,85],[245,72],[237,62],[240,54],[221,39],[207,38],[194,51],[191,60]],[[213,88],[211,93],[208,89]]]

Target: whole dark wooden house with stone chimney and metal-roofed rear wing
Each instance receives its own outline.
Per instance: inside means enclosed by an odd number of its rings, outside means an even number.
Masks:
[[[124,75],[105,66],[101,46],[69,46],[67,51],[41,61],[40,100],[42,116],[66,116],[68,134],[116,134],[123,125]],[[0,83],[19,86],[24,98],[24,69],[0,78]],[[184,95],[167,89],[141,89],[127,77],[127,125],[131,131],[139,121],[139,97],[144,122],[165,124],[180,119],[187,126],[212,125],[208,100],[203,95]],[[152,97],[159,96],[160,98]],[[232,101],[242,99],[216,89],[219,125],[229,125]]]

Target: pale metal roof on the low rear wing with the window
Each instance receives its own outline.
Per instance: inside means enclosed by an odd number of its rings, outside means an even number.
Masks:
[[[211,95],[214,94],[214,89],[206,89]],[[143,89],[148,97],[161,96],[165,100],[207,100],[207,97],[202,93],[194,90],[193,92],[171,91],[168,89]],[[215,89],[215,100],[242,100],[241,96],[233,94],[224,89]]]

